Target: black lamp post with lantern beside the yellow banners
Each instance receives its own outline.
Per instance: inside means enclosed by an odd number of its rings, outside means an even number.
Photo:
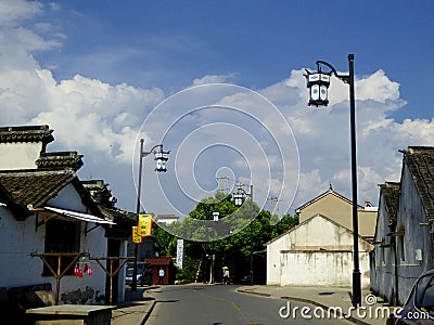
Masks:
[[[151,151],[143,152],[143,139],[140,139],[140,153],[139,153],[139,184],[137,187],[137,209],[136,209],[136,218],[137,222],[139,222],[139,213],[140,213],[140,194],[142,187],[142,160],[150,154],[154,154],[156,160],[155,171],[157,172],[166,172],[166,162],[169,159],[169,152],[163,152],[163,144],[155,145]],[[156,151],[159,148],[159,151]],[[132,269],[132,283],[131,283],[131,291],[137,290],[137,256],[139,252],[139,244],[136,243],[135,246],[135,266]]]

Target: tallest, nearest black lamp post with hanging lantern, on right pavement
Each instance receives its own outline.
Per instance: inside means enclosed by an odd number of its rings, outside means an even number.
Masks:
[[[321,72],[321,66],[326,65],[331,69],[330,73]],[[316,73],[306,70],[307,87],[310,89],[308,105],[327,106],[329,104],[328,88],[330,76],[333,75],[344,83],[349,84],[349,121],[352,136],[352,185],[353,185],[353,232],[354,232],[354,271],[353,271],[353,306],[361,303],[361,283],[359,269],[359,223],[357,214],[357,161],[356,161],[356,98],[354,90],[354,54],[348,54],[349,74],[340,75],[336,69],[324,61],[317,61]]]

